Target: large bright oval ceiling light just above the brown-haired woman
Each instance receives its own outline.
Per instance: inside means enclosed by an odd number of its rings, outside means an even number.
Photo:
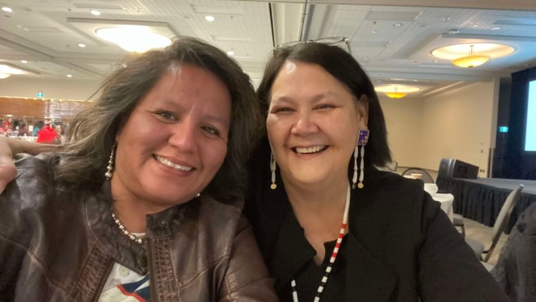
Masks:
[[[151,32],[145,26],[125,25],[99,28],[95,34],[100,38],[119,45],[128,52],[146,52],[152,48],[170,45],[171,39],[163,34]]]

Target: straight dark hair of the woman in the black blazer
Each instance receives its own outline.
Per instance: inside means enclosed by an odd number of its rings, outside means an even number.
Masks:
[[[266,65],[263,80],[257,89],[260,108],[265,114],[265,118],[271,98],[271,86],[287,60],[320,65],[350,89],[356,102],[366,101],[368,103],[370,137],[365,147],[365,164],[385,166],[387,162],[390,162],[391,151],[387,143],[386,120],[383,117],[374,86],[353,56],[340,47],[309,42],[273,50]]]

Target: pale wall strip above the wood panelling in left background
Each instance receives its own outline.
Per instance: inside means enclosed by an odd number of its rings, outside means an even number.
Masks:
[[[45,99],[87,100],[100,87],[100,81],[74,78],[41,80],[10,76],[0,80],[0,96],[36,98],[37,92],[42,91]]]

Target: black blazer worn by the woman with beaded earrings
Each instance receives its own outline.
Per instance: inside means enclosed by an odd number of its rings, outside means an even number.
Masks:
[[[292,210],[280,175],[270,188],[269,153],[257,153],[251,168],[245,212],[282,294],[299,269],[295,259],[308,257],[291,255],[292,244],[306,239],[282,230]],[[348,219],[346,301],[509,301],[421,180],[365,169]]]

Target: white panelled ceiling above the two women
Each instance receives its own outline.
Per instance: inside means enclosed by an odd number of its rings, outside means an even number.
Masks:
[[[411,96],[536,66],[536,0],[0,0],[0,6],[12,8],[0,11],[0,64],[29,72],[13,77],[101,80],[127,53],[94,31],[126,23],[232,51],[254,83],[274,45],[333,36],[348,37],[375,85],[419,87]],[[215,20],[205,21],[207,15]],[[430,55],[440,46],[487,41],[515,52],[471,69]]]

